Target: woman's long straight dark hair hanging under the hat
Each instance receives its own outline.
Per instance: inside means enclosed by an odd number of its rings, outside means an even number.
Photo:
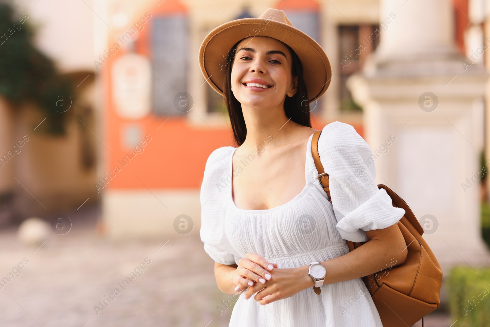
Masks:
[[[235,45],[228,51],[226,75],[224,78],[224,90],[226,107],[228,109],[228,115],[230,116],[231,128],[233,129],[233,136],[238,146],[241,146],[246,137],[245,119],[242,111],[242,104],[235,98],[233,92],[231,92],[231,68],[233,60],[235,59],[235,51],[242,39],[235,43]],[[284,113],[286,117],[291,118],[294,123],[311,127],[310,121],[310,105],[308,103],[308,93],[306,91],[306,84],[303,79],[303,66],[301,60],[297,56],[296,52],[291,49],[290,46],[284,43],[284,45],[291,52],[293,57],[293,65],[291,73],[293,78],[297,76],[297,91],[293,97],[286,96],[284,100]]]

